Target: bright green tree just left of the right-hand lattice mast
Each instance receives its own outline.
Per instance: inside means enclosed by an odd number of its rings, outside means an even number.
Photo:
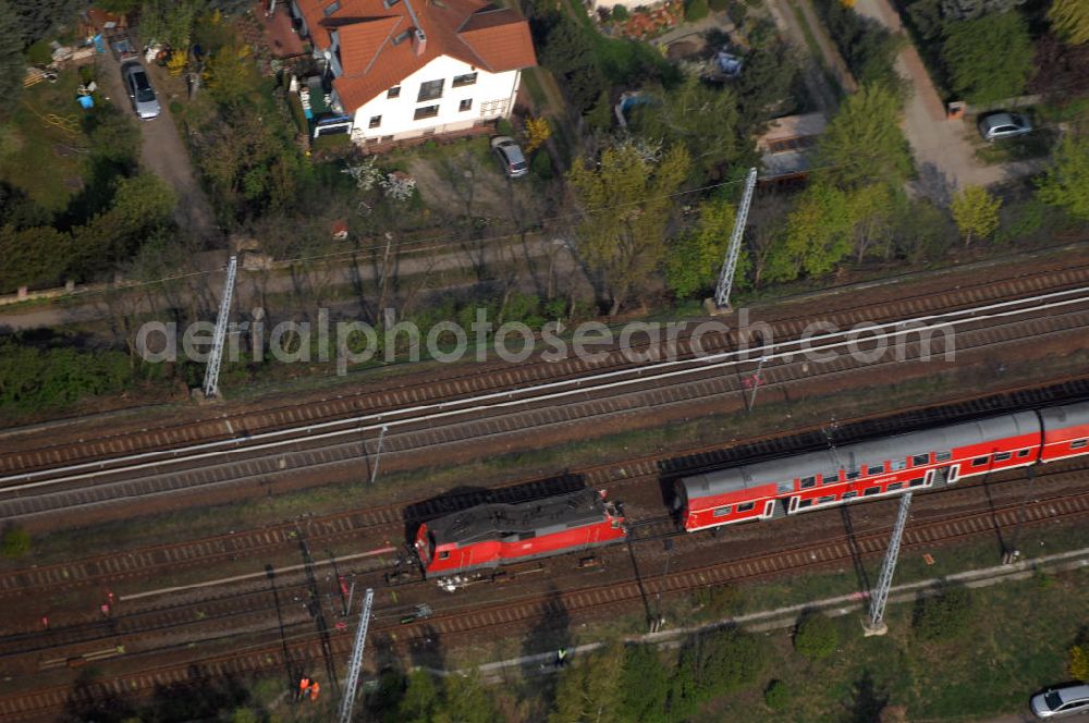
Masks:
[[[670,245],[665,283],[678,297],[692,296],[714,283],[730,244],[734,218],[734,207],[725,200],[705,201],[699,207],[696,229]],[[747,257],[738,261],[736,278],[739,280],[747,275],[743,268],[747,267]]]

